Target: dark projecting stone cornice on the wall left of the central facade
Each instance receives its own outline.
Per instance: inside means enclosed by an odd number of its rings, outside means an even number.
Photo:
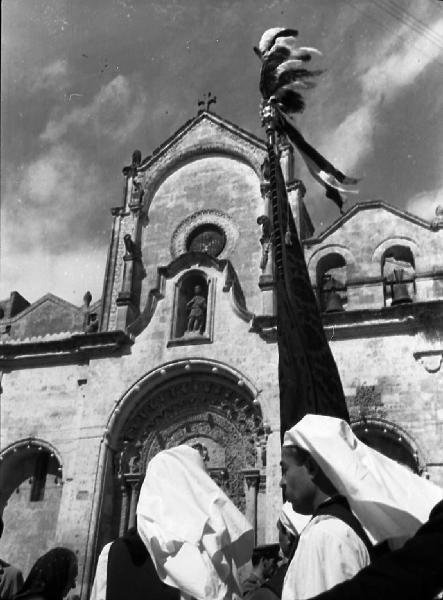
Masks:
[[[132,337],[124,331],[74,333],[63,337],[53,336],[53,339],[11,340],[0,344],[0,368],[79,362],[121,353],[132,344]]]

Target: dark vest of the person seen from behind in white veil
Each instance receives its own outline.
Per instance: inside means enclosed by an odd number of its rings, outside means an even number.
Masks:
[[[163,583],[136,531],[117,539],[109,550],[106,600],[179,600],[177,588]]]

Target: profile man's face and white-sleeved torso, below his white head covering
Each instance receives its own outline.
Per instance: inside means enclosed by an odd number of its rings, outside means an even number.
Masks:
[[[309,598],[349,579],[370,563],[371,546],[346,500],[312,456],[292,438],[289,442],[286,433],[283,495],[297,513],[313,516],[286,572],[282,600]]]

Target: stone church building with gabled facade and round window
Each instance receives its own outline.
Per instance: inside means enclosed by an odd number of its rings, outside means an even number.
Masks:
[[[54,545],[86,597],[103,544],[134,523],[161,448],[208,469],[273,541],[281,502],[272,243],[262,140],[202,112],[123,170],[103,295],[0,302],[2,555],[27,572]],[[443,485],[443,218],[373,200],[315,237],[288,194],[353,426]]]

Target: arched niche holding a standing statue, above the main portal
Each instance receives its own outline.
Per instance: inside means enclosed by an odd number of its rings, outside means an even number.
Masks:
[[[174,338],[203,336],[207,329],[208,281],[201,271],[191,271],[177,286]]]

